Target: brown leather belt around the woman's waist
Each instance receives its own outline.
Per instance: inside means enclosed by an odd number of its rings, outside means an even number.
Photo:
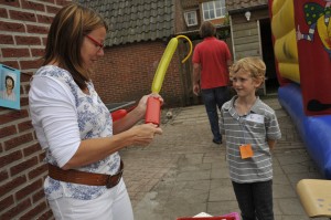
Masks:
[[[64,170],[49,164],[49,176],[53,179],[79,185],[106,186],[107,188],[115,187],[119,182],[122,171],[124,164],[121,160],[120,168],[116,175],[102,175],[75,169]]]

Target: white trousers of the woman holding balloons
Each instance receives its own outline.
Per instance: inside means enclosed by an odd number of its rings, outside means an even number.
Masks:
[[[116,187],[96,199],[58,198],[49,203],[56,220],[134,220],[131,201],[122,178]]]

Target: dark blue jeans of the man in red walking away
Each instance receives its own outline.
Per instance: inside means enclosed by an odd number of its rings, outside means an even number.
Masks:
[[[213,139],[222,140],[217,107],[221,111],[222,105],[229,99],[229,90],[227,86],[201,90],[201,95],[210,119]]]

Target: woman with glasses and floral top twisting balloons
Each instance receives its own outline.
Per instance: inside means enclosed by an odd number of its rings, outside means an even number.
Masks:
[[[52,22],[43,66],[31,82],[31,118],[46,151],[44,190],[55,219],[132,220],[118,150],[148,145],[162,133],[151,124],[134,126],[145,115],[148,95],[113,123],[94,90],[90,69],[104,55],[106,32],[93,10],[64,7]]]

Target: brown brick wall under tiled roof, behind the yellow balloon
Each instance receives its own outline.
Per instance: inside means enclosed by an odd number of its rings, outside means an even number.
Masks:
[[[108,104],[139,101],[142,95],[149,94],[166,46],[167,42],[149,41],[106,49],[92,76],[103,102]],[[177,51],[169,64],[160,92],[168,106],[183,104],[180,65]]]

